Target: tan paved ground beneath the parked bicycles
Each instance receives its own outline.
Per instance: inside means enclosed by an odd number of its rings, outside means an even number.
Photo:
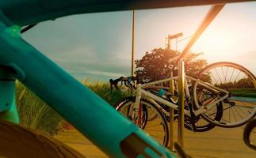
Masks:
[[[256,151],[247,148],[243,143],[243,128],[244,126],[234,129],[216,127],[205,133],[185,130],[185,151],[195,158],[255,158]],[[107,157],[76,130],[62,132],[56,138],[86,157]]]

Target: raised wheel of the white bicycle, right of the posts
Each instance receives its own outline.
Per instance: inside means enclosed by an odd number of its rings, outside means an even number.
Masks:
[[[216,107],[202,113],[202,117],[216,126],[241,126],[252,119],[256,113],[255,77],[243,66],[231,62],[216,62],[206,66],[198,75],[200,81],[214,85],[228,92],[222,101],[222,119],[213,119]],[[193,85],[193,99],[197,108],[207,106],[215,100],[227,95],[226,92],[215,91],[208,85],[196,81]],[[217,103],[216,106],[218,106]]]

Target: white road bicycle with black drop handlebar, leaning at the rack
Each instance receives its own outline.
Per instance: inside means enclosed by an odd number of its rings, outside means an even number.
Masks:
[[[219,82],[216,77],[220,79]],[[178,96],[171,95],[163,90],[164,87],[155,85],[177,80],[177,78],[171,77],[137,85],[134,84],[134,81],[138,82],[136,77],[110,80],[111,87],[117,88],[118,82],[124,81],[124,85],[133,92],[133,96],[120,100],[116,104],[117,111],[155,137],[162,145],[168,145],[169,131],[166,122],[166,118],[170,117],[168,108],[178,111],[178,102],[175,101]],[[239,85],[241,81],[247,82]],[[185,76],[185,127],[189,130],[204,132],[215,126],[227,128],[242,126],[256,114],[256,103],[250,102],[254,99],[245,100],[246,98],[239,96],[237,92],[243,93],[248,89],[255,91],[255,81],[256,78],[249,70],[231,62],[216,62],[206,66],[197,79]],[[161,93],[165,93],[165,96],[159,95],[160,91],[164,91]],[[158,119],[155,119],[156,117]],[[159,121],[159,127],[154,126],[152,132],[147,125],[150,126],[148,123],[154,120]],[[160,135],[155,135],[156,130]]]

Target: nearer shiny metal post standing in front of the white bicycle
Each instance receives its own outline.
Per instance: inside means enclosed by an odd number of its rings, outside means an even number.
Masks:
[[[178,69],[178,144],[181,147],[184,146],[183,137],[184,137],[184,62],[182,58],[179,62]]]

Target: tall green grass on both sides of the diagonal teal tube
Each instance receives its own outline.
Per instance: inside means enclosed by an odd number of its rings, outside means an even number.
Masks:
[[[94,82],[86,84],[86,86],[111,105],[128,96],[128,92],[117,90],[113,90],[111,93],[109,83]],[[22,126],[41,130],[48,134],[56,134],[62,129],[65,120],[19,82],[17,82],[16,88],[16,103]]]

